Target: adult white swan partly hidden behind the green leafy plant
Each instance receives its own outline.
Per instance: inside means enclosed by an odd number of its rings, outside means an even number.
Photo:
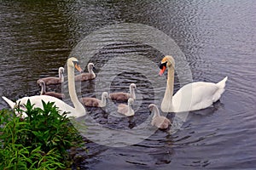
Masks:
[[[76,90],[75,90],[75,83],[74,83],[75,68],[80,72],[82,71],[82,69],[79,66],[78,59],[76,58],[67,59],[68,91],[69,91],[71,101],[73,102],[74,108],[70,105],[67,105],[61,99],[57,99],[55,97],[48,96],[48,95],[35,95],[30,97],[24,97],[22,99],[18,99],[16,101],[16,104],[20,103],[20,106],[26,105],[27,100],[30,99],[34,107],[43,108],[42,100],[44,100],[44,102],[46,103],[55,102],[55,106],[59,108],[60,113],[63,113],[64,111],[69,113],[67,114],[67,116],[75,116],[75,117],[84,116],[86,114],[84,106],[79,102],[79,99],[77,97]],[[4,96],[2,98],[9,104],[9,106],[12,109],[14,109],[16,105],[15,102],[11,101],[10,99],[7,99]],[[24,115],[22,116],[24,117],[26,116],[26,114],[24,113]]]

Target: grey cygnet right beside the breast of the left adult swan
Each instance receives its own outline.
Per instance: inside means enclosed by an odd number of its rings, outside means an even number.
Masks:
[[[80,101],[85,106],[89,107],[105,107],[107,103],[108,92],[102,93],[102,100],[96,98],[81,98]]]

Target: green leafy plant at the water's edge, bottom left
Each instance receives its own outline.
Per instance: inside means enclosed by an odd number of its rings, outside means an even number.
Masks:
[[[61,169],[68,167],[72,147],[84,141],[67,118],[59,114],[54,103],[43,102],[43,109],[33,108],[28,100],[26,118],[14,111],[0,111],[0,169]]]

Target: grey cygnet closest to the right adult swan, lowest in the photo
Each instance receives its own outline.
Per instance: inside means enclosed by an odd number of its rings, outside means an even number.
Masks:
[[[169,119],[167,119],[165,116],[160,116],[159,110],[156,105],[150,104],[148,105],[149,111],[154,113],[154,116],[151,121],[151,125],[158,127],[160,129],[166,129],[171,125],[171,122]]]

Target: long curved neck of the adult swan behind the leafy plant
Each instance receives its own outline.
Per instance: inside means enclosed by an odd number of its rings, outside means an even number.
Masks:
[[[75,82],[74,82],[74,68],[69,68],[70,66],[67,66],[67,80],[68,80],[68,91],[70,95],[70,99],[73,102],[75,113],[73,113],[73,116],[79,117],[85,115],[85,109],[84,106],[79,102],[76,89],[75,89]]]

